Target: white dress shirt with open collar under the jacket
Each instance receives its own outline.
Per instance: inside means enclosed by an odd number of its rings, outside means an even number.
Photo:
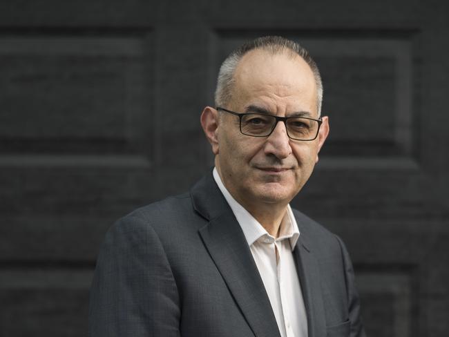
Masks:
[[[282,337],[307,337],[307,316],[293,249],[300,235],[290,205],[274,238],[227,191],[216,168],[213,178],[225,196],[253,254]]]

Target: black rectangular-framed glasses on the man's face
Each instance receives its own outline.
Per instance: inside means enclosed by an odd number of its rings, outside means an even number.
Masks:
[[[236,113],[219,106],[222,110],[240,119],[240,132],[251,137],[268,137],[276,128],[278,122],[284,122],[287,135],[294,140],[314,140],[318,136],[323,120],[307,117],[278,117],[267,113]]]

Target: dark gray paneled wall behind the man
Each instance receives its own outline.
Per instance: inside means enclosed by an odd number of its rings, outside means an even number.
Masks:
[[[448,1],[0,3],[0,336],[84,336],[106,229],[212,164],[218,66],[278,34],[331,133],[293,204],[341,235],[372,337],[449,331]]]

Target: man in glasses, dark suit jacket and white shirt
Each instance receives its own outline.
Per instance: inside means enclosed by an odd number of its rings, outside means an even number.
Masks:
[[[90,336],[365,336],[343,242],[289,206],[329,132],[322,93],[292,41],[231,53],[201,115],[215,168],[110,229]]]

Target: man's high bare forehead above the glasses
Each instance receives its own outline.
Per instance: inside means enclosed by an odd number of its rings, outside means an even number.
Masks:
[[[302,57],[291,52],[251,50],[236,67],[234,80],[233,100],[239,106],[256,103],[271,109],[316,108],[312,69]]]

